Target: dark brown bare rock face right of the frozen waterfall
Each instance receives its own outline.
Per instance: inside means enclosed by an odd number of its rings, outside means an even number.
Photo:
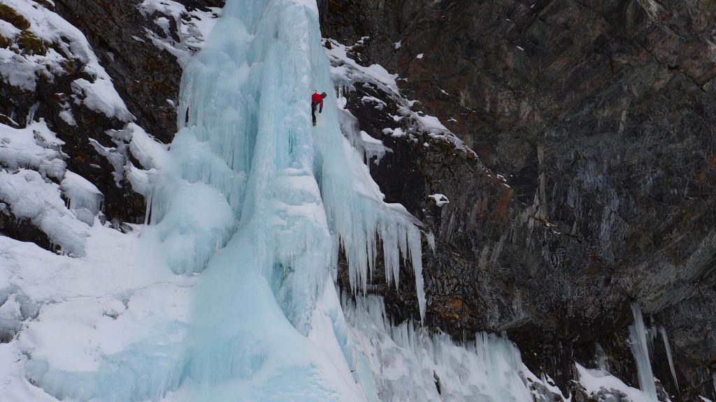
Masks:
[[[361,105],[364,89],[349,94],[361,129],[393,150],[372,167],[387,200],[435,234],[424,274],[430,325],[458,336],[506,331],[528,366],[561,386],[572,361],[593,363],[599,345],[611,371],[637,384],[625,364],[636,300],[669,334],[681,398],[713,397],[712,5],[319,6],[324,36],[368,36],[357,61],[394,69],[406,97],[478,153],[385,138],[376,124],[385,116]],[[434,193],[450,204],[437,207]],[[410,289],[384,294],[397,318],[414,316]],[[677,395],[664,347],[654,345],[656,375]]]

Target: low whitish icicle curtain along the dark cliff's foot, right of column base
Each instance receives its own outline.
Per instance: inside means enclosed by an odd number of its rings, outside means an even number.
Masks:
[[[349,327],[347,345],[355,345],[366,356],[377,375],[380,400],[532,400],[523,378],[536,377],[526,371],[519,350],[509,340],[477,333],[474,343],[459,345],[448,335],[430,335],[410,321],[387,323],[384,301],[376,295],[355,303],[347,297],[342,300]]]

